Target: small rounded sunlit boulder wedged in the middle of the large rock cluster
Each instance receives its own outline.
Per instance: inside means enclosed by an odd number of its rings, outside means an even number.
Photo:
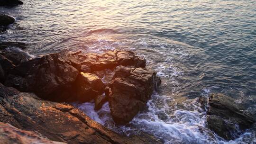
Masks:
[[[92,73],[83,73],[77,76],[75,81],[76,99],[80,102],[90,101],[96,96],[101,95],[105,85],[101,79]]]

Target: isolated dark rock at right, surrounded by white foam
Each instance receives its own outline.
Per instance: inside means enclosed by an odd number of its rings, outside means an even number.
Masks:
[[[231,140],[253,125],[255,120],[235,104],[234,99],[212,93],[207,111],[208,127],[220,137]]]

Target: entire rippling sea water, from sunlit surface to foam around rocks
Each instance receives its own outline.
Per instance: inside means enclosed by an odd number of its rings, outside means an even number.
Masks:
[[[76,104],[94,120],[165,144],[256,144],[256,126],[231,141],[212,133],[201,103],[225,93],[256,118],[256,0],[23,1],[0,8],[16,19],[0,42],[25,42],[30,56],[132,50],[161,77],[160,90],[126,126],[115,126],[108,103],[99,111]]]

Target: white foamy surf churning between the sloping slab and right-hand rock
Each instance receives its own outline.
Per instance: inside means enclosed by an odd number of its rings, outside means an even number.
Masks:
[[[94,103],[74,104],[93,120],[103,126],[124,134],[139,135],[148,133],[164,140],[165,144],[249,144],[255,142],[254,132],[247,131],[239,138],[225,141],[207,128],[205,109],[201,108],[198,98],[193,99],[189,109],[178,109],[170,106],[174,99],[159,96],[156,93],[147,103],[147,109],[137,114],[126,126],[116,126],[110,115],[108,103],[95,111]],[[160,103],[161,107],[156,103]],[[254,144],[254,143],[251,143]]]

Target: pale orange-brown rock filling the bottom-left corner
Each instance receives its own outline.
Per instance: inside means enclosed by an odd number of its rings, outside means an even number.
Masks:
[[[6,123],[0,122],[1,144],[66,144],[50,141],[35,132],[18,129]]]

